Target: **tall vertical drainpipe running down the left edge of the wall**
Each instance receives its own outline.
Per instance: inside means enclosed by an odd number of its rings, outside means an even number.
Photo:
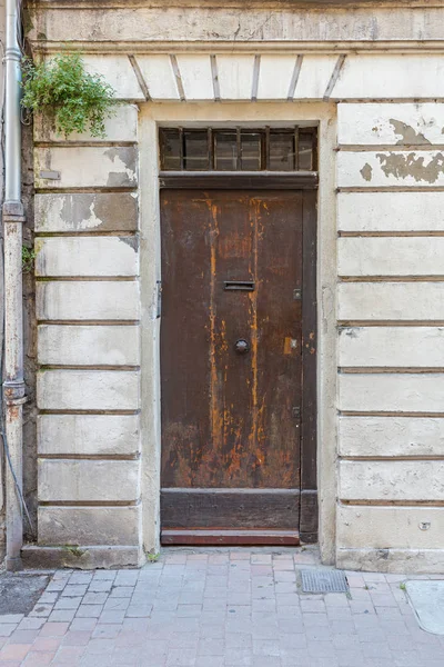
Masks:
[[[4,419],[10,465],[6,461],[7,561],[8,570],[21,568],[23,544],[21,508],[22,489],[22,410],[23,381],[23,316],[22,316],[22,225],[21,202],[21,123],[20,81],[21,52],[18,42],[20,17],[17,0],[6,2],[6,106],[4,106]],[[11,472],[11,468],[16,479]],[[20,488],[20,492],[17,486]]]

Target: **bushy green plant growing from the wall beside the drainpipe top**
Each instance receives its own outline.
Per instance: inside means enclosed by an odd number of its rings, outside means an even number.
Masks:
[[[85,71],[79,53],[58,53],[39,63],[26,58],[22,71],[22,106],[50,119],[58,135],[105,137],[104,121],[119,103],[115,91],[101,74]]]

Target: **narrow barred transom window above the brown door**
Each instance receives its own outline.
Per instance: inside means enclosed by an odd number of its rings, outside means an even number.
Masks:
[[[161,128],[163,171],[315,171],[315,128]]]

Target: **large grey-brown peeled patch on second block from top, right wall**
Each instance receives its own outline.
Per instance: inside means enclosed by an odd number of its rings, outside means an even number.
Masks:
[[[414,152],[408,155],[376,153],[376,158],[380,160],[381,169],[386,177],[394,176],[396,179],[412,177],[416,182],[434,183],[440,175],[444,173],[444,155],[442,152],[436,153],[428,165],[424,165],[425,158],[423,156],[416,157]]]

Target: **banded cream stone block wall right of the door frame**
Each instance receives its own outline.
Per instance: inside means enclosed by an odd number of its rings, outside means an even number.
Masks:
[[[426,94],[418,70],[397,94]],[[341,567],[444,564],[443,126],[441,103],[337,108]]]

